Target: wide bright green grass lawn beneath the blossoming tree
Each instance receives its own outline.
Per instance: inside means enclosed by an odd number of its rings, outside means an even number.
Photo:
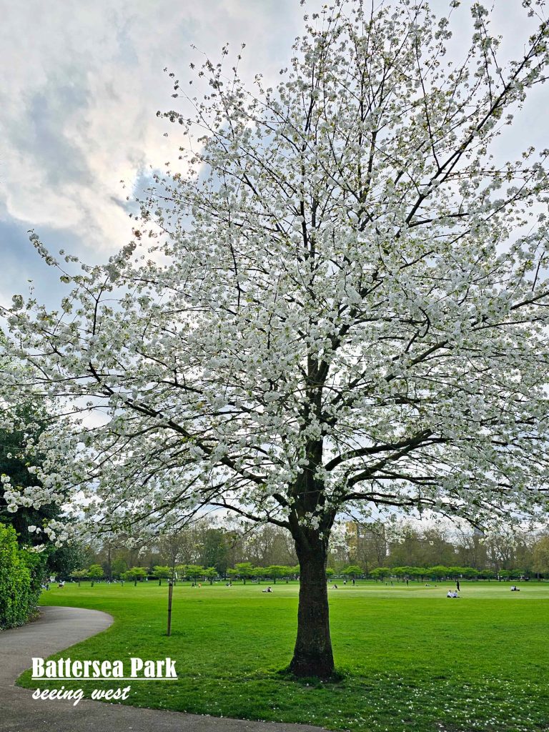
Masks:
[[[463,583],[459,600],[447,599],[450,583],[340,585],[329,591],[343,673],[335,684],[277,674],[291,659],[298,586],[264,586],[176,586],[171,638],[165,583],[51,589],[42,604],[115,618],[53,658],[170,656],[179,680],[132,682],[127,703],[155,709],[364,732],[549,730],[549,584],[520,583],[515,593],[509,583]],[[28,672],[20,683],[37,685]]]

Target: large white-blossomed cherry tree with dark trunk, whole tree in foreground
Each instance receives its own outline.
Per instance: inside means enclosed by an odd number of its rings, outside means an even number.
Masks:
[[[7,313],[27,365],[7,392],[64,406],[40,486],[4,477],[10,509],[70,490],[90,531],[154,534],[206,507],[288,529],[301,676],[334,669],[338,513],[478,526],[548,507],[549,151],[491,154],[544,81],[548,25],[523,2],[531,36],[503,64],[488,11],[459,5],[335,1],[306,16],[276,89],[247,89],[226,48],[193,86],[173,77],[179,163],[132,242],[74,272],[32,234],[71,291]]]

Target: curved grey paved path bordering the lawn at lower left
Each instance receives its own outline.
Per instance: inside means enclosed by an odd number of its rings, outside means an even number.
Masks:
[[[40,701],[15,679],[32,665],[105,630],[107,613],[81,608],[40,608],[40,619],[0,632],[0,732],[319,732],[309,725],[250,722],[158,712],[135,706],[82,700]]]

